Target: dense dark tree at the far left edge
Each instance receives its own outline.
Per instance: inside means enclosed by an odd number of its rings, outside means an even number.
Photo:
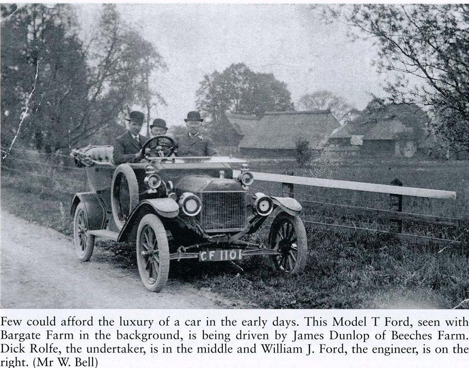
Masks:
[[[2,52],[2,110],[8,112],[7,131],[23,121],[23,101],[35,80],[34,94],[28,99],[32,113],[18,134],[24,133],[26,141],[32,138],[38,149],[57,147],[86,100],[86,62],[74,14],[68,5],[29,4],[12,10],[2,8],[3,14],[10,14],[2,23],[2,48],[8,49]],[[6,138],[10,140],[8,135]]]

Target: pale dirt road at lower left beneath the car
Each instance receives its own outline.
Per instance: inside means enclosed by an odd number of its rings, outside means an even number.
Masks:
[[[148,292],[138,271],[119,267],[95,247],[89,262],[74,256],[67,236],[1,211],[2,308],[227,308],[230,302],[169,280]]]

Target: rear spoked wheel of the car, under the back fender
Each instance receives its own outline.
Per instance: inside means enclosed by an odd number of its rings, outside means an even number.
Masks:
[[[86,262],[94,249],[94,235],[88,233],[88,217],[83,203],[78,203],[73,220],[73,243],[78,259]]]

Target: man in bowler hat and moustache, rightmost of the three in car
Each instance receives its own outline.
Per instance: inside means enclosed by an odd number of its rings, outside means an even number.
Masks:
[[[198,111],[189,111],[184,119],[189,129],[178,142],[178,156],[212,156],[216,154],[210,138],[202,136],[200,126],[203,119]]]

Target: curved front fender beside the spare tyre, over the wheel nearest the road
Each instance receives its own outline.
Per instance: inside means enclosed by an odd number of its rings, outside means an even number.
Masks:
[[[160,217],[174,218],[179,215],[179,205],[171,198],[145,199],[138,203],[119,233],[117,241],[129,241],[136,236],[138,221],[148,213],[155,212]]]

